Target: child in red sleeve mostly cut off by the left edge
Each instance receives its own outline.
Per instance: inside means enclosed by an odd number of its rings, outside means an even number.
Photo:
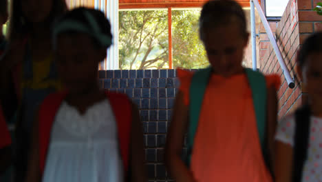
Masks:
[[[11,137],[0,107],[0,176],[11,164]]]

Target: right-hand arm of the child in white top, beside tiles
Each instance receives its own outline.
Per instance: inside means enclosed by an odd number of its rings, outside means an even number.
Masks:
[[[131,127],[131,181],[147,181],[147,174],[144,164],[143,133],[140,121],[140,114],[136,105],[132,104],[132,127]]]

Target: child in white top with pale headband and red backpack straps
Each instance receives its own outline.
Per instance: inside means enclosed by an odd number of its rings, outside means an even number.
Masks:
[[[138,110],[124,94],[100,90],[98,63],[112,35],[98,10],[77,8],[54,27],[67,92],[41,104],[28,181],[145,181]]]

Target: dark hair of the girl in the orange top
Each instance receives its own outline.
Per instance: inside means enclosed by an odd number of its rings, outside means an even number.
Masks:
[[[233,22],[237,18],[241,36],[247,36],[246,17],[243,8],[233,0],[213,0],[204,4],[200,16],[200,39],[204,41],[204,31]],[[235,23],[235,21],[233,22]]]

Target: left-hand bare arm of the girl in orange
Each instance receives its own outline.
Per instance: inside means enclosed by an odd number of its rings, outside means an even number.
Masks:
[[[181,159],[184,135],[188,125],[188,107],[184,105],[182,92],[178,92],[173,117],[167,136],[165,158],[171,176],[178,182],[192,182],[193,175]]]

